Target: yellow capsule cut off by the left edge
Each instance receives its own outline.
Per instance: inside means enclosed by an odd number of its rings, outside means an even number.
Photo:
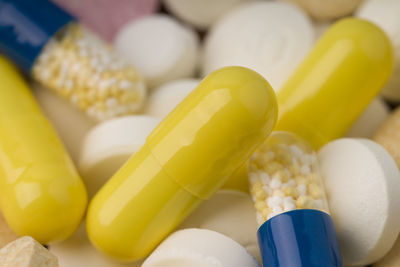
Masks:
[[[10,227],[41,243],[78,227],[86,190],[17,70],[0,57],[0,207]]]

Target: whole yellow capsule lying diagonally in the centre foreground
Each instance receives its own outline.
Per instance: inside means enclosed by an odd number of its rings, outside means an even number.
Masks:
[[[93,198],[92,243],[119,260],[146,257],[243,165],[276,116],[274,92],[254,71],[207,76]]]

